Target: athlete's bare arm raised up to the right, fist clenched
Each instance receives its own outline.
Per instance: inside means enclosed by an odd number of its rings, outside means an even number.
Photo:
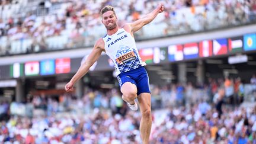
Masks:
[[[144,18],[140,18],[139,20],[137,20],[133,23],[126,24],[126,25],[124,25],[124,28],[126,30],[130,29],[130,32],[135,33],[136,31],[140,30],[140,28],[142,28],[144,25],[151,23],[151,21],[153,21],[153,19],[155,19],[156,15],[163,12],[164,9],[165,9],[164,5],[159,4],[156,9],[154,9],[151,13],[146,15]]]

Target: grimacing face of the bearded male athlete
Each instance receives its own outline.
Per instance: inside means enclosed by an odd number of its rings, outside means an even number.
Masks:
[[[113,30],[117,27],[117,17],[113,11],[107,11],[102,15],[102,23],[107,30]]]

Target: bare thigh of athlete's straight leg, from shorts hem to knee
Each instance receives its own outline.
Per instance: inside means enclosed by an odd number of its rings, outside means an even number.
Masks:
[[[140,111],[151,110],[151,94],[148,92],[143,92],[137,97],[139,101]]]

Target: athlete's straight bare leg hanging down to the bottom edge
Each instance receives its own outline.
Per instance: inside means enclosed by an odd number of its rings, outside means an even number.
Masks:
[[[142,137],[143,144],[148,144],[152,125],[151,94],[141,93],[137,99],[139,100],[140,113],[142,114],[142,119],[140,120],[140,136]]]

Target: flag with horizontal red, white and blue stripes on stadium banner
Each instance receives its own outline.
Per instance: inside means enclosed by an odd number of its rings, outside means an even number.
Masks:
[[[184,53],[185,59],[197,58],[199,55],[199,47],[198,47],[197,43],[184,44],[183,53]]]

